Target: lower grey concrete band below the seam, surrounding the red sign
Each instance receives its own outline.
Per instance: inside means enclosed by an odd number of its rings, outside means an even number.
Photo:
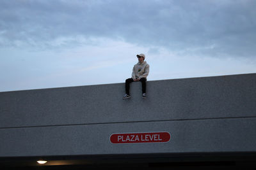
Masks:
[[[33,127],[0,131],[1,157],[256,152],[256,118]],[[118,132],[168,131],[168,143],[112,144]]]

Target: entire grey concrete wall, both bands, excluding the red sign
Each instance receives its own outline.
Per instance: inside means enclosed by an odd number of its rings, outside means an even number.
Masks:
[[[256,74],[0,92],[0,157],[256,152]],[[113,133],[170,132],[112,144]]]

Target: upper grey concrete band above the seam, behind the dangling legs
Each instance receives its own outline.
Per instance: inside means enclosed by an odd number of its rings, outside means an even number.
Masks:
[[[0,92],[0,127],[255,117],[256,74]]]

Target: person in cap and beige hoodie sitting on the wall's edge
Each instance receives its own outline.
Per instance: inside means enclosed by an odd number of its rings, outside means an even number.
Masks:
[[[132,69],[132,78],[125,80],[125,95],[123,99],[130,98],[130,83],[134,81],[141,81],[142,85],[142,97],[146,99],[146,81],[149,73],[149,65],[145,61],[145,55],[143,53],[138,54],[138,63],[133,66]]]

